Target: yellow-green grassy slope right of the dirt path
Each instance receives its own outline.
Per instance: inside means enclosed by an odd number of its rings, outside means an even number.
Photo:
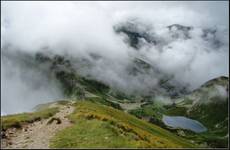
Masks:
[[[74,125],[60,131],[51,147],[193,147],[156,125],[90,101],[78,102],[70,119]]]

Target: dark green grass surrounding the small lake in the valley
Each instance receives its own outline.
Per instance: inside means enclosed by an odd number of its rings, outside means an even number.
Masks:
[[[164,109],[161,109],[160,106],[158,107],[157,105],[154,106],[154,104],[148,104],[142,108],[131,110],[129,113],[138,118],[152,117],[153,121],[149,122],[157,124],[174,134],[177,134],[177,130],[164,126],[161,121],[161,114],[169,116],[185,116],[198,120],[208,128],[207,132],[197,134],[192,131],[183,130],[186,135],[184,138],[193,140],[195,143],[201,145],[207,143],[208,147],[223,148],[228,146],[228,137],[226,137],[228,133],[228,119],[226,119],[228,115],[228,101],[216,101],[217,102],[194,106],[189,113],[187,112],[189,108],[185,105],[190,101],[182,101],[176,106],[166,105],[163,106]],[[216,124],[219,124],[219,127],[215,127]]]

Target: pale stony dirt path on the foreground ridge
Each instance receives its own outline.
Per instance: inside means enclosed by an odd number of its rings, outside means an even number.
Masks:
[[[74,111],[73,106],[59,106],[60,111],[53,117],[25,125],[22,130],[10,129],[10,137],[2,143],[2,148],[49,148],[49,140],[58,131],[71,125],[66,118],[67,115]],[[47,122],[51,118],[59,118],[61,123],[54,120],[51,124]]]

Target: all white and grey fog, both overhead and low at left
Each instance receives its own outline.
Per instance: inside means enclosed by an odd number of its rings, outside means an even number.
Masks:
[[[215,77],[229,76],[228,12],[228,2],[223,1],[1,2],[1,52],[34,55],[46,47],[73,62],[84,58],[92,65],[87,68],[76,61],[73,65],[79,73],[127,93],[149,92],[158,88],[163,77],[151,71],[128,74],[133,59],[140,58],[173,76],[173,83],[193,90]],[[138,50],[130,46],[127,35],[114,31],[127,22],[159,44],[140,38]],[[189,38],[169,31],[167,26],[172,24],[191,26]],[[204,37],[207,29],[214,32]],[[19,56],[8,59],[2,55],[2,113],[28,111],[63,98],[55,80],[36,67],[22,65],[20,59],[15,60]]]

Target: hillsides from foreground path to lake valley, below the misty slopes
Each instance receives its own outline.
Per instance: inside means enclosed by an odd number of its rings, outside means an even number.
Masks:
[[[192,93],[176,99],[171,105],[160,101],[119,100],[110,94],[103,94],[103,90],[99,92],[91,89],[91,92],[85,91],[82,99],[73,98],[41,104],[35,107],[36,111],[33,113],[2,117],[2,146],[3,148],[227,147],[228,99],[223,97],[223,93],[220,94],[218,91],[215,93],[218,90],[216,86],[227,88],[227,82],[226,77],[210,80]],[[210,96],[207,91],[215,94]],[[210,108],[212,111],[209,111]],[[162,121],[163,115],[196,119],[208,130],[195,133],[170,128]],[[39,132],[41,130],[44,132]],[[43,136],[45,140],[41,140]]]

